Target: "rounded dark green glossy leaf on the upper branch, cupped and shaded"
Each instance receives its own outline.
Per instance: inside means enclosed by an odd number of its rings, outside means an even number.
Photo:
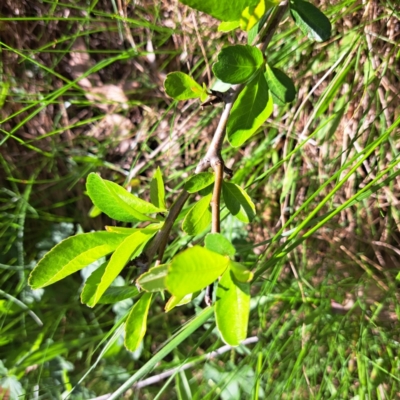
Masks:
[[[212,69],[215,76],[226,83],[247,82],[264,64],[261,50],[252,46],[228,46],[218,54]]]

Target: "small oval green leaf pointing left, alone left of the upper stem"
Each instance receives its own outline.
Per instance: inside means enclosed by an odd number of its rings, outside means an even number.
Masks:
[[[203,88],[183,72],[171,72],[164,81],[165,92],[175,100],[188,100],[201,97]]]

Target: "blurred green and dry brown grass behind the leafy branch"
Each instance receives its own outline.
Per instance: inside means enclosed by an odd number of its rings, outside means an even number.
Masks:
[[[206,355],[223,343],[201,299],[165,314],[157,297],[143,346],[132,354],[123,348],[120,326],[134,299],[89,309],[80,304],[80,274],[44,291],[27,287],[31,268],[63,237],[111,223],[88,216],[90,172],[148,197],[159,165],[171,204],[219,115],[218,107],[173,103],[161,90],[174,70],[208,83],[188,9],[146,1],[129,6],[124,18],[118,2],[70,3],[32,9],[6,1],[0,11],[0,360],[6,368],[0,367],[0,386],[11,384],[12,398],[59,399],[73,388],[71,399],[121,398],[140,380],[176,368],[125,398],[396,398],[400,103],[390,87],[398,86],[400,52],[390,26],[400,16],[394,2],[380,2],[374,14],[372,3],[368,10],[355,0],[325,1],[334,25],[329,42],[309,42],[288,20],[271,43],[267,60],[293,78],[298,97],[276,109],[246,146],[226,145],[223,152],[233,182],[248,188],[257,207],[252,224],[227,217],[222,228],[257,277],[248,335],[258,341],[212,359]],[[246,43],[195,15],[210,65],[224,44]],[[366,31],[374,32],[372,52]],[[78,39],[90,59],[81,74],[93,87],[125,84],[127,108],[86,96],[71,72]],[[108,114],[131,122],[125,136],[107,126]],[[158,151],[168,141],[173,146]],[[177,224],[166,257],[189,243]],[[135,276],[127,268],[119,283]]]

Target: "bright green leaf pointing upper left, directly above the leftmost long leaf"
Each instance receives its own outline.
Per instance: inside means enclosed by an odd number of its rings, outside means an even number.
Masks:
[[[157,222],[156,219],[143,215],[142,210],[148,213],[161,210],[129,193],[123,187],[102,179],[95,173],[89,174],[86,189],[93,204],[110,218],[123,222]]]

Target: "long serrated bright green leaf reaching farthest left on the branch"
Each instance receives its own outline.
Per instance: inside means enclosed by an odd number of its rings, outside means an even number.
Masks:
[[[126,235],[90,232],[71,236],[53,247],[31,272],[29,285],[39,289],[57,282],[112,253]]]

